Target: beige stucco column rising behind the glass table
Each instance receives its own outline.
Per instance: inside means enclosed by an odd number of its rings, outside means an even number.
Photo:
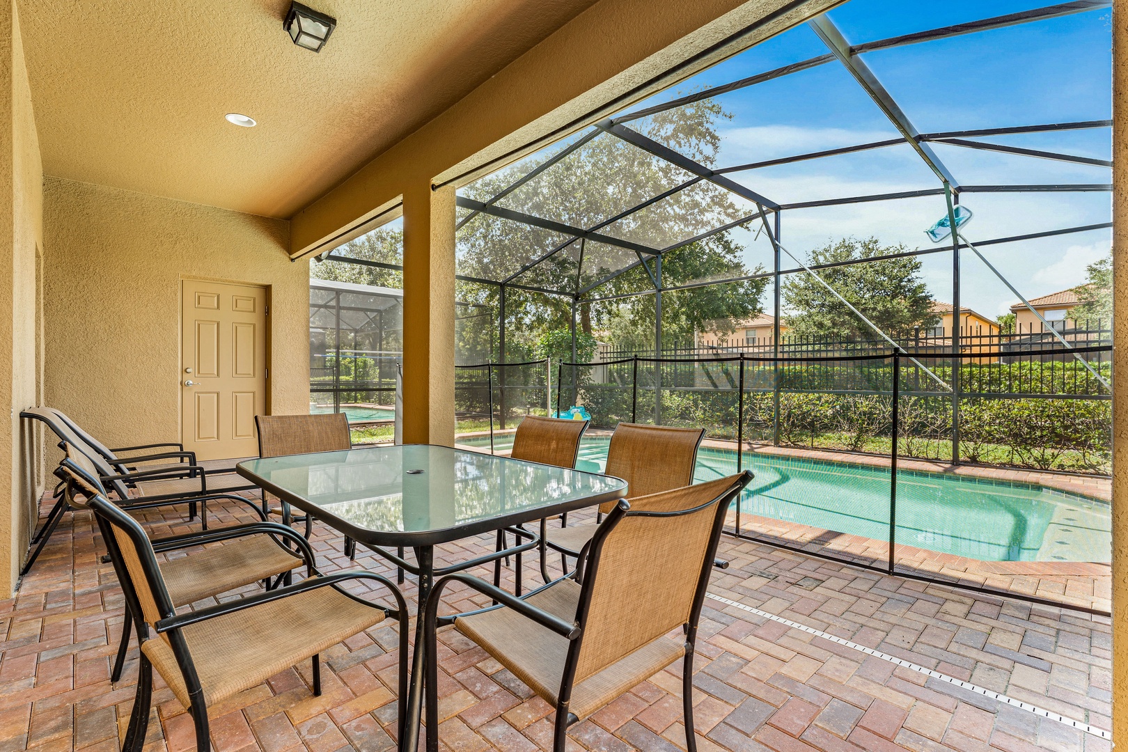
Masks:
[[[404,443],[455,444],[455,188],[404,192]]]

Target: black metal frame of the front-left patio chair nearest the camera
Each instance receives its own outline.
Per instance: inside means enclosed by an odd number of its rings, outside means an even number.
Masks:
[[[122,558],[121,549],[118,549],[115,538],[114,530],[111,525],[115,525],[118,530],[124,531],[130,539],[133,541],[133,546],[138,551],[138,556],[141,563],[141,568],[144,572],[144,576],[150,583],[150,590],[152,595],[157,601],[157,608],[161,613],[161,619],[155,625],[156,631],[158,634],[166,635],[169,645],[173,649],[173,654],[176,656],[177,664],[180,669],[182,675],[184,678],[185,685],[188,690],[188,696],[192,699],[188,713],[192,715],[192,720],[195,726],[196,732],[196,750],[199,752],[208,752],[211,749],[211,741],[209,737],[209,726],[208,726],[208,707],[204,700],[203,688],[200,684],[200,678],[196,675],[195,665],[192,662],[192,653],[188,649],[187,642],[184,639],[182,629],[190,625],[199,623],[208,619],[213,619],[215,617],[224,616],[228,613],[233,613],[236,611],[243,611],[262,603],[268,603],[271,601],[276,601],[290,595],[298,593],[305,593],[318,587],[333,587],[341,594],[349,599],[352,599],[359,603],[363,603],[374,609],[380,609],[384,611],[389,619],[395,619],[400,622],[399,630],[399,697],[403,698],[407,692],[407,632],[408,630],[404,628],[404,620],[406,619],[407,603],[404,600],[403,594],[395,586],[395,584],[382,575],[378,575],[372,572],[342,572],[332,575],[318,576],[316,578],[303,580],[300,583],[293,585],[287,585],[284,587],[279,587],[275,590],[266,591],[264,593],[258,593],[255,595],[249,595],[247,598],[229,601],[226,603],[219,603],[205,609],[200,609],[199,611],[188,611],[183,614],[177,614],[176,609],[173,607],[168,599],[167,592],[164,587],[153,587],[152,584],[159,584],[160,580],[160,567],[157,564],[157,559],[153,552],[153,548],[150,545],[149,538],[146,536],[141,525],[138,524],[136,520],[131,517],[121,508],[116,507],[113,503],[106,499],[105,496],[96,495],[89,501],[89,506],[95,513],[95,517],[98,521],[98,528],[102,532],[103,539],[106,541],[106,546],[109,549],[111,559],[114,563],[114,569],[117,573],[118,582],[122,585],[122,591],[125,593],[125,600],[129,604],[129,609],[132,613],[140,614],[141,604],[138,600],[136,593],[130,585],[129,570],[125,567],[125,563]],[[267,523],[271,524],[271,523]],[[283,528],[283,525],[276,525],[277,528]],[[299,537],[293,530],[290,531],[293,536]],[[396,609],[388,609],[378,603],[371,603],[363,599],[356,598],[351,593],[343,590],[340,584],[349,580],[371,580],[379,582],[380,584],[388,587],[391,592],[393,598],[396,601]],[[143,619],[136,619],[138,635],[142,639],[149,639],[149,627],[143,621]],[[156,637],[156,636],[153,636]],[[320,661],[317,655],[312,657],[314,667],[314,695],[319,696],[321,693],[321,673],[320,673]],[[138,689],[136,698],[133,702],[133,713],[130,716],[130,725],[125,733],[125,738],[122,743],[122,750],[127,752],[139,752],[143,744],[144,737],[149,725],[149,711],[152,702],[152,664],[146,657],[144,653],[141,654],[141,662],[138,672]],[[403,702],[399,704],[399,733],[403,734],[404,728],[405,711]]]

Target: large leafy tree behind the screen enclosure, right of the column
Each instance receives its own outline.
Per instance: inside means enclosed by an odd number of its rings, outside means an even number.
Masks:
[[[720,138],[720,104],[705,99],[633,121],[632,127],[706,166],[714,166]],[[564,144],[562,144],[564,148]],[[519,163],[467,186],[466,194],[490,201],[527,175],[537,162]],[[707,182],[693,185],[645,209],[610,222],[624,211],[688,183],[693,175],[611,134],[591,139],[556,165],[517,187],[496,203],[615,238],[667,249],[747,213],[731,194]],[[458,231],[459,272],[468,276],[556,290],[554,295],[508,287],[505,355],[531,354],[540,334],[571,329],[575,300],[578,330],[610,333],[619,344],[650,350],[654,342],[654,295],[594,301],[654,289],[653,258],[618,246],[523,223],[477,214]],[[571,240],[571,241],[570,241]],[[661,283],[678,286],[704,278],[744,276],[742,248],[729,232],[713,235],[663,254]],[[646,259],[645,262],[643,259]],[[520,269],[540,259],[528,271]],[[512,277],[511,280],[509,277]],[[740,319],[760,312],[766,280],[663,293],[664,344],[693,339],[695,328],[714,319]],[[590,287],[590,289],[589,289]],[[475,302],[497,306],[499,289],[475,285]],[[573,299],[573,295],[575,298]],[[461,298],[460,298],[461,299]]]

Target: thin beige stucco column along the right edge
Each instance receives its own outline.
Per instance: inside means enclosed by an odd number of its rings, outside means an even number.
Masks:
[[[1117,8],[1119,10],[1119,8]],[[1112,741],[1128,746],[1128,25],[1112,24]]]

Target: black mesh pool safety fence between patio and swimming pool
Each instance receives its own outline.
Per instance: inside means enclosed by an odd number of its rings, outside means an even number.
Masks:
[[[703,448],[699,467],[707,461],[726,472],[755,462],[767,476],[738,499],[730,536],[1108,616],[1107,502],[1034,484],[898,468],[899,460],[924,459],[1107,475],[1111,347],[1040,354],[1047,357],[1033,362],[977,350],[459,365],[458,441],[485,449],[488,440],[491,452],[501,451],[525,415],[578,413],[591,421],[592,442],[622,421],[704,427],[714,441]],[[752,451],[773,445],[838,455],[830,462]],[[799,497],[774,504],[785,485]],[[820,497],[828,489],[832,497]],[[796,504],[803,520],[790,511]],[[1066,587],[1069,577],[1089,584]]]

